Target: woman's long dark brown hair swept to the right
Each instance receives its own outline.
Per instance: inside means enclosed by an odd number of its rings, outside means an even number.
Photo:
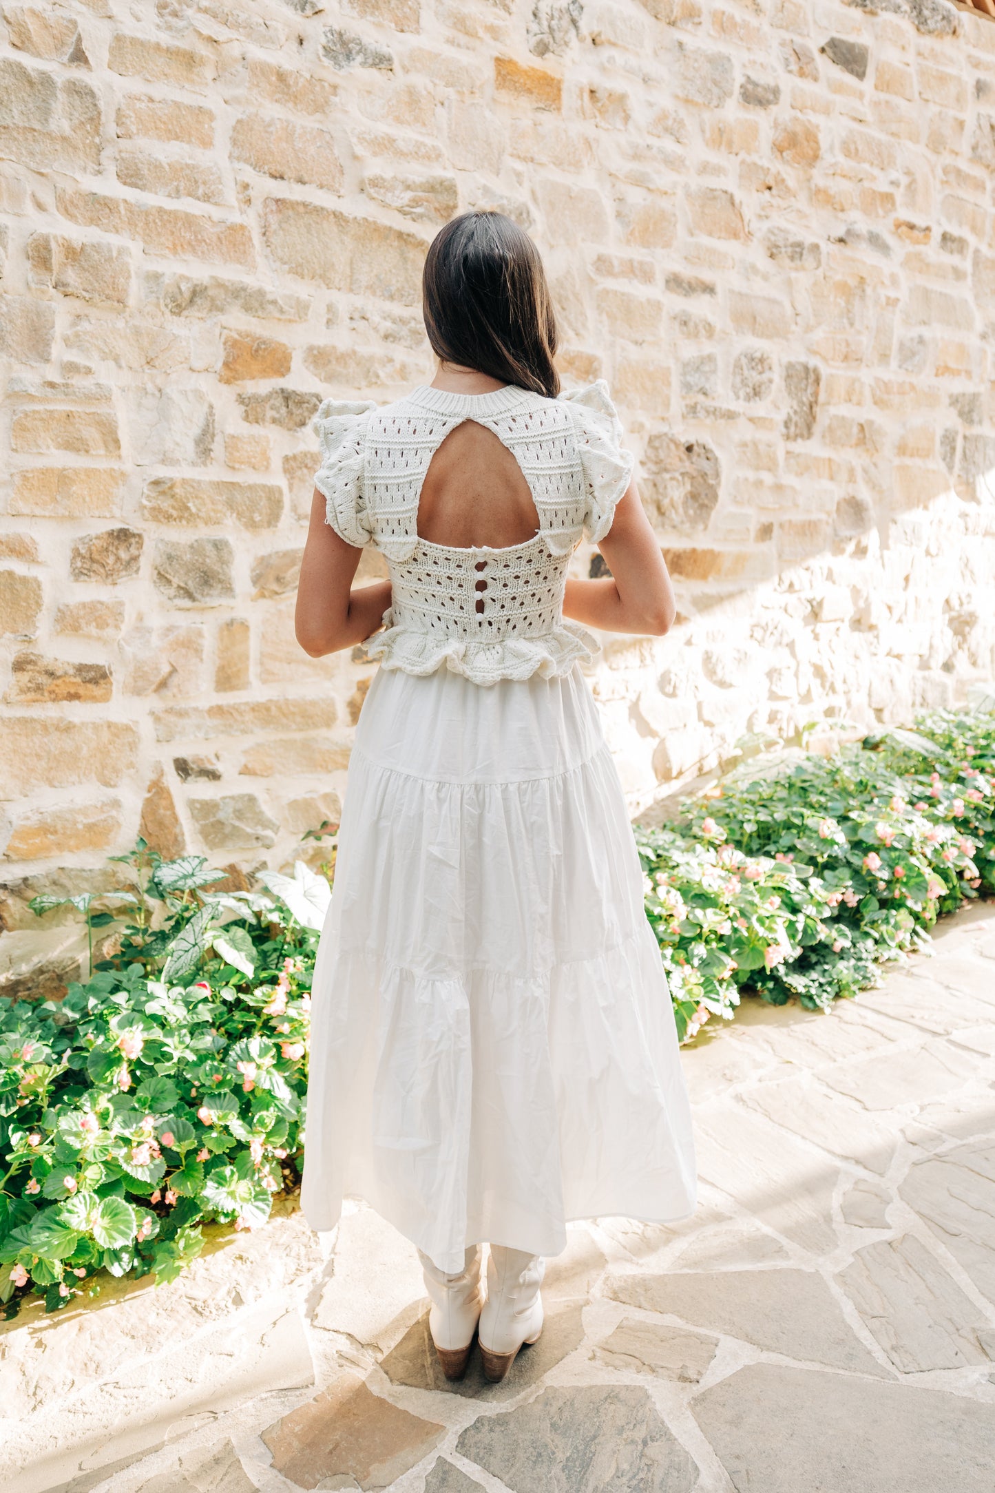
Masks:
[[[555,399],[556,318],[539,249],[503,212],[464,212],[433,239],[422,315],[446,363]]]

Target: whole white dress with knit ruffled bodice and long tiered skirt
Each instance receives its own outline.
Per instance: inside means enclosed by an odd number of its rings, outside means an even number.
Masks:
[[[418,537],[421,481],[462,420],[516,455],[534,540]],[[385,555],[392,603],[315,966],[307,1221],[361,1197],[452,1272],[471,1244],[558,1254],[570,1220],[686,1217],[670,993],[580,669],[597,642],[561,612],[573,548],[607,533],[631,476],[607,385],[422,385],[325,400],[315,424],[328,521]]]

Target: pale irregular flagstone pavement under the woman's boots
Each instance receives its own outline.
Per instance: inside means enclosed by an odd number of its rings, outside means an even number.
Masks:
[[[446,1386],[413,1248],[286,1211],[0,1333],[6,1493],[992,1493],[995,905],[829,1015],[685,1053],[701,1200],[570,1229],[546,1329]]]

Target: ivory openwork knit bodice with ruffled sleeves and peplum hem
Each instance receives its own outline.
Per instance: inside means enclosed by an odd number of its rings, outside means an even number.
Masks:
[[[539,532],[521,545],[451,548],[418,533],[418,497],[437,446],[464,420],[491,430],[528,482]],[[389,405],[327,399],[316,417],[315,485],[346,543],[386,560],[391,606],[365,643],[383,669],[446,666],[474,684],[568,673],[598,651],[564,620],[570,557],[598,543],[633,476],[604,379],[546,399],[516,385],[452,394],[419,385]]]

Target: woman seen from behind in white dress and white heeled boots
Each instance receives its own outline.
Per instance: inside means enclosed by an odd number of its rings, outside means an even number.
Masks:
[[[577,626],[662,635],[674,603],[607,385],[559,394],[531,239],[455,218],[424,318],[431,384],[315,421],[297,638],[321,657],[376,633],[380,669],[315,966],[303,1206],[331,1229],[360,1196],[412,1239],[446,1375],[479,1327],[498,1380],[542,1330],[568,1220],[694,1208],[673,1008]],[[567,579],[583,534],[610,576]],[[389,581],[351,590],[367,545]]]

